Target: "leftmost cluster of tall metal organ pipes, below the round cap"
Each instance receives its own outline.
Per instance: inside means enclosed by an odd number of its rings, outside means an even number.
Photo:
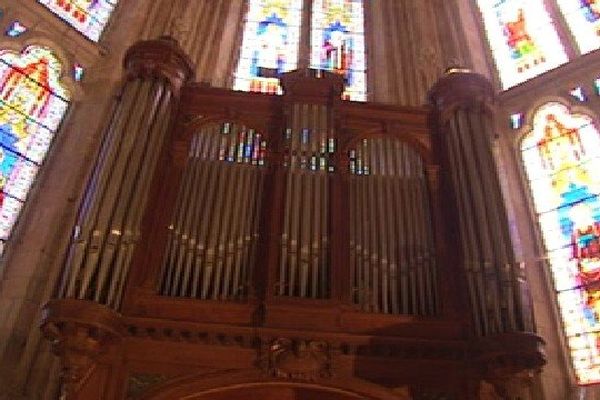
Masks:
[[[142,46],[156,43],[165,44]],[[125,84],[81,204],[58,298],[120,307],[172,97],[164,78]]]

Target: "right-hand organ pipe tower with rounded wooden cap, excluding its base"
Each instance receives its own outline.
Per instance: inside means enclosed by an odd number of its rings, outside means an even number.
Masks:
[[[492,141],[494,90],[481,75],[448,73],[430,95],[459,222],[461,264],[474,332],[533,330],[529,294],[516,263]]]

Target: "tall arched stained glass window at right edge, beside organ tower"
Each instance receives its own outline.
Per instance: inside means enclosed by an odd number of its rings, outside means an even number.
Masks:
[[[547,103],[521,150],[577,379],[600,383],[600,134]]]

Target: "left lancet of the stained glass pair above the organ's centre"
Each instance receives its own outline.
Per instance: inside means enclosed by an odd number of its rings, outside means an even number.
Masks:
[[[250,0],[234,90],[280,93],[279,74],[296,69],[302,0]]]

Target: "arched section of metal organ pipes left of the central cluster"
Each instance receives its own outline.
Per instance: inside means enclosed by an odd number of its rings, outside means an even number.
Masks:
[[[248,295],[256,254],[266,142],[234,123],[192,139],[170,226],[159,291],[239,300]]]

